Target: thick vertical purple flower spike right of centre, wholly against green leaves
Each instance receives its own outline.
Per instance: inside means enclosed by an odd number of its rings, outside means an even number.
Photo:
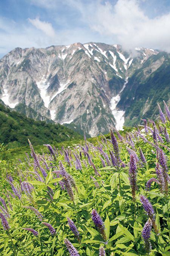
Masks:
[[[130,163],[129,163],[129,181],[131,186],[131,192],[133,201],[135,201],[136,189],[137,189],[137,166],[136,166],[136,159],[134,155],[130,155]]]

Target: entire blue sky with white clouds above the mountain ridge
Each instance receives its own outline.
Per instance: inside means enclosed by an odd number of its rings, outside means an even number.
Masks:
[[[170,0],[1,0],[0,57],[74,42],[170,52]]]

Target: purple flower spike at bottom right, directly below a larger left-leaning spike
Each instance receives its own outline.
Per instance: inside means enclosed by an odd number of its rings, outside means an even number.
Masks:
[[[142,237],[145,243],[145,250],[147,251],[148,254],[151,251],[151,243],[149,241],[151,228],[152,228],[152,221],[148,219],[148,221],[145,223],[145,226],[142,230]]]

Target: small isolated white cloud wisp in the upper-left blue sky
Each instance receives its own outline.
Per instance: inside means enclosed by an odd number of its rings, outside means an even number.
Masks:
[[[42,30],[47,36],[54,37],[55,36],[55,31],[53,29],[53,26],[49,22],[41,21],[39,18],[36,19],[28,19],[31,24]]]

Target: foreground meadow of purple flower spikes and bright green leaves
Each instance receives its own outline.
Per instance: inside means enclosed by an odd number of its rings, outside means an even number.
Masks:
[[[170,112],[0,161],[0,255],[170,255]]]

